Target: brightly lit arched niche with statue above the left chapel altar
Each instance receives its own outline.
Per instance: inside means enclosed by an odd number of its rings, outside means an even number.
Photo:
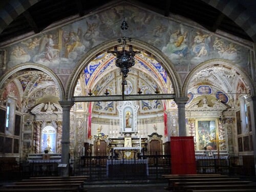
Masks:
[[[41,131],[41,153],[48,150],[49,153],[56,153],[57,131],[53,126],[47,125]]]

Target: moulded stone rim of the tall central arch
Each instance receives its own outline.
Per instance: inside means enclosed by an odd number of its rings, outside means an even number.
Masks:
[[[82,70],[88,65],[88,63],[92,59],[94,59],[97,54],[104,52],[106,50],[112,49],[117,44],[118,42],[116,39],[106,41],[103,44],[89,51],[86,55],[83,56],[83,58],[80,59],[80,61],[77,63],[76,68],[73,70],[73,73],[71,74],[68,80],[67,87],[66,87],[66,100],[70,100],[73,97],[79,75],[81,74]],[[170,60],[161,51],[159,51],[152,45],[147,44],[144,41],[133,39],[131,42],[129,42],[129,44],[135,46],[137,49],[152,53],[152,55],[154,55],[156,60],[162,63],[162,66],[166,70],[167,75],[170,78],[170,81],[172,81],[174,93],[176,94],[176,97],[180,97],[181,96],[181,80],[178,73],[176,72],[176,69],[173,63],[170,62]]]

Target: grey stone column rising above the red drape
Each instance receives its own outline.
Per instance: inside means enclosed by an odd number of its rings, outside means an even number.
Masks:
[[[179,136],[188,136],[186,130],[186,117],[185,117],[185,104],[188,97],[177,97],[174,99],[178,105],[178,125],[179,125]]]

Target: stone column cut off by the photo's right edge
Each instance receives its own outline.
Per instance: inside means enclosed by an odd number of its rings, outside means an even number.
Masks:
[[[256,173],[256,97],[248,98],[247,101],[250,103],[250,115],[251,115],[251,131],[253,141],[253,155],[254,155],[254,167]]]

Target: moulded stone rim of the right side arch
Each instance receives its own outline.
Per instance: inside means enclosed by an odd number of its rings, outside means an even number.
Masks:
[[[213,66],[213,65],[222,65],[222,66],[226,66],[230,69],[234,69],[238,74],[240,74],[245,81],[249,84],[249,88],[251,90],[251,96],[255,95],[255,87],[253,84],[253,80],[251,79],[251,77],[245,72],[245,70],[243,70],[240,66],[238,66],[236,63],[233,63],[229,60],[225,60],[225,59],[210,59],[207,60],[205,62],[202,62],[200,65],[198,65],[195,69],[193,69],[188,76],[185,79],[185,82],[183,84],[183,88],[182,88],[182,94],[186,95],[187,91],[188,91],[188,84],[191,80],[191,78],[193,78],[198,72],[200,72],[201,70],[209,67],[209,66]]]

